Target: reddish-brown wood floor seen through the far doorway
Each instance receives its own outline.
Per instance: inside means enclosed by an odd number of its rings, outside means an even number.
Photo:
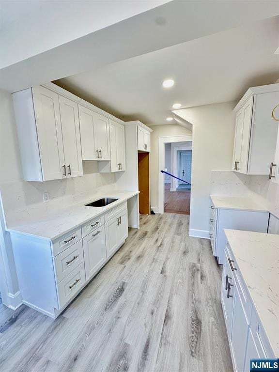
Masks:
[[[190,214],[191,191],[170,191],[171,184],[165,184],[165,212]]]

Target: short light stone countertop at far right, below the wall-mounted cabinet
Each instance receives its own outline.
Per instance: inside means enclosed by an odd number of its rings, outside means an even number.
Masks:
[[[251,198],[235,198],[223,196],[210,196],[215,208],[218,209],[242,209],[254,212],[268,212],[266,206],[255,202]]]

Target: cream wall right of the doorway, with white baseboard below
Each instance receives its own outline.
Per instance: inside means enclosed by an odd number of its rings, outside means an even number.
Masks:
[[[190,233],[208,236],[211,171],[230,171],[233,158],[235,102],[174,112],[193,124]]]

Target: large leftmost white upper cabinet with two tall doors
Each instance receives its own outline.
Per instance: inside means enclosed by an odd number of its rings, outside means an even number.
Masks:
[[[83,174],[77,104],[45,87],[13,93],[24,179]]]

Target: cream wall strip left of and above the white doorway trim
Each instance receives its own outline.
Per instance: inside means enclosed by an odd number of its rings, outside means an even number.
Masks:
[[[150,196],[151,207],[158,208],[158,137],[191,135],[192,132],[178,124],[151,126]]]

